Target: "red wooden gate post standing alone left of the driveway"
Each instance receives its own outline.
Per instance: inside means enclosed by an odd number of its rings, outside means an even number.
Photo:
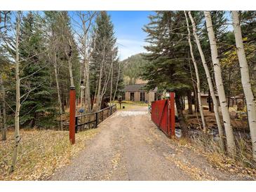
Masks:
[[[69,90],[69,140],[75,143],[75,118],[76,118],[76,90],[70,87]]]

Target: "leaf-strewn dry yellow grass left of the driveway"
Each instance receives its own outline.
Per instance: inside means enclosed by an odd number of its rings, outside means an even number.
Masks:
[[[13,154],[13,131],[6,141],[0,141],[0,180],[43,180],[69,164],[85,148],[85,140],[92,138],[97,129],[76,134],[76,144],[69,142],[69,132],[55,130],[21,130],[21,141],[16,169],[9,173]]]

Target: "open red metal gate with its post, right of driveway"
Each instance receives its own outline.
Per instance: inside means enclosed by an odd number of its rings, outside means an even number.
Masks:
[[[151,119],[168,137],[175,137],[174,92],[169,100],[151,102]]]

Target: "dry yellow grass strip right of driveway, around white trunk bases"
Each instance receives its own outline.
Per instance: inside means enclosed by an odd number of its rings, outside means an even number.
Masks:
[[[250,141],[236,137],[236,155],[234,158],[227,156],[220,148],[220,143],[213,138],[206,138],[203,135],[193,137],[187,147],[197,153],[206,156],[208,161],[218,170],[226,170],[236,174],[249,174],[256,176],[256,164],[252,160]],[[184,146],[184,141],[182,144]]]

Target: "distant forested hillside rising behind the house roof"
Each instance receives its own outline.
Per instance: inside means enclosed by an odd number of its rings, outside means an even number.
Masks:
[[[123,80],[127,84],[135,84],[139,80],[144,66],[147,65],[149,61],[144,60],[142,53],[137,55],[132,55],[126,60],[123,60]]]

